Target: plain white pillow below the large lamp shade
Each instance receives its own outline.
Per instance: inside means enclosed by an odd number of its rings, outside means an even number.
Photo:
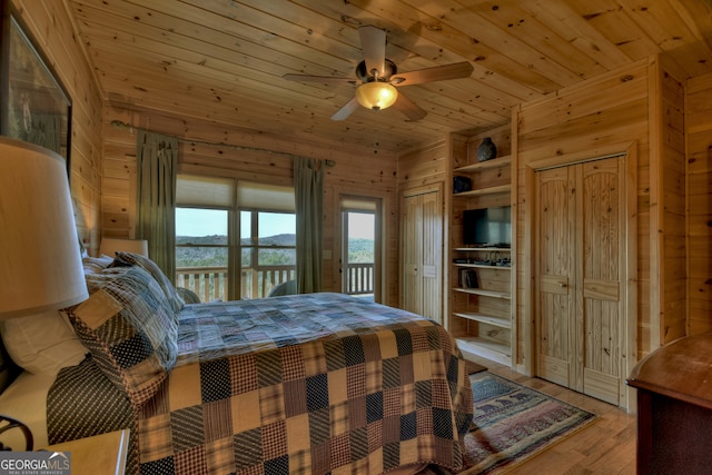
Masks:
[[[85,359],[69,319],[58,310],[0,321],[2,343],[12,360],[32,374],[57,375]]]

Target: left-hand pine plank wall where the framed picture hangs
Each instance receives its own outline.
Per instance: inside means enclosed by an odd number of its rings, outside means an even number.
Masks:
[[[11,0],[71,98],[70,185],[77,231],[87,247],[96,248],[100,238],[102,99],[65,3]]]

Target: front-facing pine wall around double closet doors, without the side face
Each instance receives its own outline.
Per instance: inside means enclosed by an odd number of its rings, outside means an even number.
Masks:
[[[639,61],[582,85],[560,90],[555,96],[523,105],[515,113],[517,137],[515,162],[516,190],[516,263],[517,263],[517,358],[520,367],[531,348],[531,286],[523,270],[531,259],[526,236],[526,177],[530,164],[577,159],[623,152],[634,144],[637,155],[637,349],[639,356],[651,349],[651,261],[659,256],[651,250],[651,75],[656,75],[654,60]],[[654,81],[654,83],[657,83]],[[657,198],[655,198],[657,199]]]

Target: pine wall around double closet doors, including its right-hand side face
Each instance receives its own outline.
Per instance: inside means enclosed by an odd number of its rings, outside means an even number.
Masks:
[[[678,133],[665,133],[664,140],[651,142],[651,135],[661,132],[669,121],[680,129],[680,115],[674,102],[679,100],[679,81],[666,75],[657,58],[639,61],[575,87],[560,90],[555,96],[521,106],[516,113],[517,147],[514,150],[517,162],[516,205],[517,205],[517,358],[516,365],[531,367],[526,362],[531,348],[531,295],[523,269],[526,266],[526,167],[538,160],[556,160],[557,157],[577,159],[594,158],[609,152],[622,152],[633,144],[637,159],[635,180],[637,196],[637,315],[636,345],[637,357],[642,357],[661,344],[657,330],[651,334],[651,326],[663,328],[666,320],[664,311],[674,314],[674,308],[684,301],[684,289],[676,286],[670,290],[665,286],[674,283],[673,277],[659,278],[657,269],[666,264],[678,269],[674,263],[664,256],[680,255],[676,249],[676,229],[680,221],[680,201],[683,198],[670,196],[679,194],[680,140]],[[665,100],[655,99],[657,90],[670,88]],[[675,99],[675,97],[678,99]],[[663,103],[671,116],[663,113]],[[655,159],[651,156],[655,154]],[[662,167],[664,162],[664,167]],[[651,164],[656,168],[651,171]],[[676,165],[675,165],[676,164]],[[660,174],[671,168],[670,177]],[[653,177],[651,179],[651,176]],[[665,210],[666,204],[674,208]],[[659,208],[661,207],[661,208]],[[651,216],[653,215],[653,216]],[[661,232],[668,230],[671,239],[665,240]],[[675,253],[668,249],[675,248]],[[684,276],[676,276],[684,278]],[[683,286],[684,287],[684,286]],[[666,293],[670,290],[670,293]],[[665,295],[665,299],[661,296]],[[670,305],[665,307],[665,303]],[[655,315],[652,315],[654,313]],[[684,315],[684,313],[683,313]],[[674,316],[671,315],[671,319]],[[675,334],[679,325],[675,323]],[[671,334],[672,335],[672,334]],[[660,335],[661,337],[663,335]]]

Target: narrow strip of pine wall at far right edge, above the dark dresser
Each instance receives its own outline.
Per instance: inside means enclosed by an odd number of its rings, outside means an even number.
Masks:
[[[689,334],[712,330],[712,75],[686,83]]]

